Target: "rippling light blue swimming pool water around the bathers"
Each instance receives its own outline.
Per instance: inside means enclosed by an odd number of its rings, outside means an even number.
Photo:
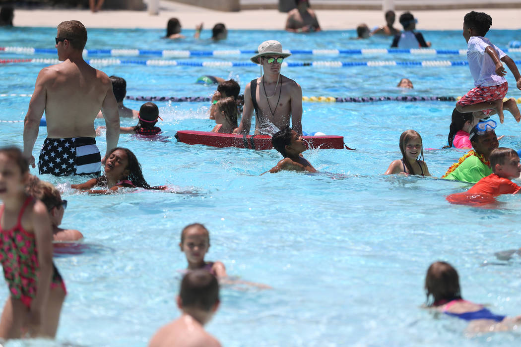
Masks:
[[[55,29],[0,29],[0,46],[52,48]],[[188,34],[193,32],[187,31]],[[520,31],[491,31],[506,47]],[[159,30],[89,30],[86,49],[255,49],[269,38],[286,49],[387,48],[387,38],[350,40],[353,31],[293,35],[280,31],[230,31],[219,44],[166,42]],[[437,49],[464,49],[460,31],[425,31]],[[511,55],[514,59],[521,56]],[[55,58],[0,52],[0,59]],[[142,57],[140,57],[142,58]],[[147,57],[143,57],[146,59]],[[148,57],[157,59],[157,57]],[[249,55],[191,57],[192,61],[249,61]],[[465,60],[465,56],[389,55],[326,57],[294,55],[288,61]],[[0,120],[21,120],[38,71],[44,64],[0,66]],[[255,67],[204,68],[142,65],[96,66],[127,80],[132,96],[210,96],[215,86],[195,84],[215,74],[244,85],[259,75]],[[463,95],[473,86],[468,67],[284,68],[305,96]],[[412,91],[395,87],[402,77]],[[519,97],[512,74],[508,96]],[[125,104],[138,109],[141,102]],[[400,134],[414,128],[426,148],[446,143],[454,102],[382,101],[303,104],[304,131],[344,136],[355,151],[310,150],[304,156],[322,173],[281,172],[259,176],[279,159],[275,150],[252,151],[177,143],[178,130],[209,131],[209,102],[157,102],[163,140],[121,135],[151,185],[169,184],[196,195],[138,191],[86,196],[67,188],[78,177],[43,175],[65,189],[63,226],[84,235],[81,254],[60,255],[56,265],[69,291],[57,343],[88,346],[144,346],[162,325],[178,316],[175,295],[183,226],[204,223],[212,247],[207,260],[221,260],[232,276],[274,289],[226,286],[221,308],[207,326],[227,346],[512,346],[518,332],[467,338],[465,324],[433,316],[423,281],[436,260],[459,271],[463,295],[487,303],[498,314],[521,314],[521,259],[499,261],[494,252],[521,247],[521,200],[502,196],[497,209],[450,205],[445,196],[468,185],[433,178],[383,176],[400,158]],[[97,120],[96,125],[103,125]],[[122,120],[130,126],[130,120]],[[22,146],[22,123],[0,123],[0,145]],[[521,148],[521,124],[506,114],[497,133],[500,145]],[[40,129],[33,154],[45,138]],[[97,139],[104,151],[105,139]],[[440,177],[464,152],[425,150],[432,175]],[[36,170],[32,170],[36,173]],[[0,301],[7,296],[0,286]],[[16,343],[15,343],[16,345]]]

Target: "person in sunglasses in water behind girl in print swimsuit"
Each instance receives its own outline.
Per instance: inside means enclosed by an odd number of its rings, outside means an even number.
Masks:
[[[64,229],[58,227],[64,217],[67,208],[67,200],[62,200],[58,189],[51,183],[41,181],[36,176],[29,178],[26,188],[27,194],[42,201],[47,207],[49,217],[51,217],[51,226],[53,229],[54,241],[78,241],[83,235],[75,229]]]

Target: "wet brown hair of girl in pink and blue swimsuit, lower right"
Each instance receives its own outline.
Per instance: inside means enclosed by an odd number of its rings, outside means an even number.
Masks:
[[[428,306],[440,300],[461,299],[460,277],[456,269],[449,263],[441,261],[432,263],[425,276],[425,291]],[[430,301],[431,295],[432,301]]]

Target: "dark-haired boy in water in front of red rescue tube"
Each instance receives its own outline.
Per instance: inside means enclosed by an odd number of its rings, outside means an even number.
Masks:
[[[313,165],[302,156],[301,153],[306,150],[306,145],[302,140],[302,136],[297,134],[292,128],[287,127],[275,133],[271,138],[271,143],[284,159],[269,170],[270,173],[279,172],[280,170],[317,172]]]

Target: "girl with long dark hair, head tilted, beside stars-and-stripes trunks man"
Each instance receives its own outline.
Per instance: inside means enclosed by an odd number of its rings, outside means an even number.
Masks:
[[[89,194],[111,194],[119,188],[141,187],[145,189],[165,190],[166,186],[151,187],[146,183],[141,171],[141,164],[130,149],[116,147],[107,153],[105,174],[92,178],[82,184],[73,184],[71,188],[86,190]],[[91,189],[105,187],[108,189]]]

